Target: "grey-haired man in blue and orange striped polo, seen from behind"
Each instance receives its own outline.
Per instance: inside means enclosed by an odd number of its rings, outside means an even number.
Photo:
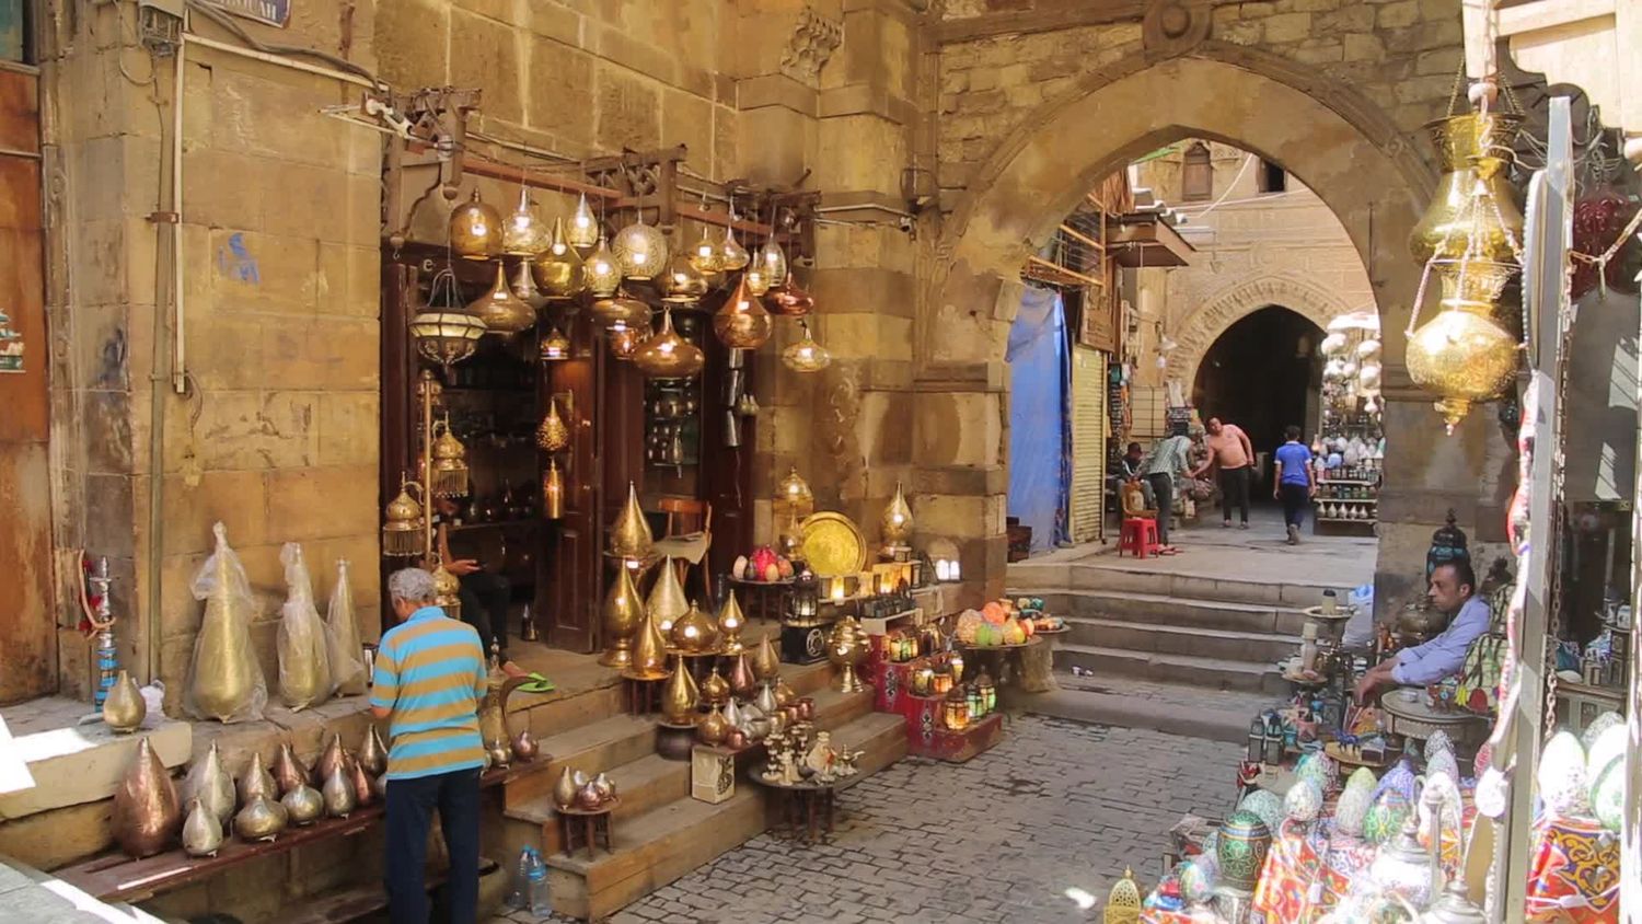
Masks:
[[[479,701],[484,648],[466,622],[433,606],[420,568],[388,578],[396,625],[376,650],[371,714],[388,719],[388,909],[425,924],[427,827],[438,807],[450,853],[450,921],[473,924],[479,904]]]

